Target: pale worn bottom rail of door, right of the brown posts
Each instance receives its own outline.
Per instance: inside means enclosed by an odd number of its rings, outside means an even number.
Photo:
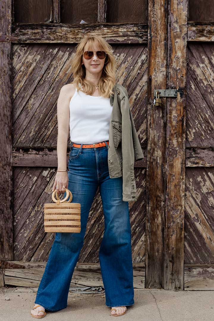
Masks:
[[[214,265],[185,264],[184,290],[214,290]]]

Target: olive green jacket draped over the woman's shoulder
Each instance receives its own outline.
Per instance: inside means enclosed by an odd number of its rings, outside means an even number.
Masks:
[[[110,178],[123,176],[123,201],[137,201],[134,178],[134,161],[143,159],[129,98],[126,89],[119,83],[110,96],[113,106],[108,145],[108,169]]]

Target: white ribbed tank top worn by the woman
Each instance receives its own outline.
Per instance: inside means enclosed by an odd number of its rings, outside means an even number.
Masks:
[[[110,97],[95,97],[77,89],[70,100],[70,138],[73,143],[94,144],[109,139]]]

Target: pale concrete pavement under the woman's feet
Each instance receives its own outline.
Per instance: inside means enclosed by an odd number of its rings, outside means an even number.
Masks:
[[[37,288],[0,288],[0,321],[36,320],[30,315]],[[141,321],[212,321],[214,291],[134,290],[135,303],[127,307],[118,320]],[[60,311],[47,311],[44,320],[113,321],[105,293],[72,293],[68,306]],[[117,319],[116,319],[117,320]],[[118,321],[117,320],[117,321]]]

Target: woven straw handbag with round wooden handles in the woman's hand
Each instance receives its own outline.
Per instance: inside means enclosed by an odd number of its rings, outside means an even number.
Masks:
[[[71,203],[73,195],[69,189],[65,188],[66,196],[60,200],[56,189],[52,193],[52,200],[55,203],[44,205],[44,225],[45,232],[73,232],[80,233],[80,203]],[[56,194],[56,198],[55,198]],[[68,196],[70,195],[69,201]]]

